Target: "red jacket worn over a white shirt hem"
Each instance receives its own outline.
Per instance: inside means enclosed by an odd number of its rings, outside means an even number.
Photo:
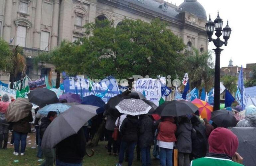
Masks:
[[[175,142],[175,132],[176,132],[177,126],[174,124],[174,118],[167,117],[164,119],[163,122],[160,122],[158,126],[158,136],[157,140],[163,141],[163,142]]]

